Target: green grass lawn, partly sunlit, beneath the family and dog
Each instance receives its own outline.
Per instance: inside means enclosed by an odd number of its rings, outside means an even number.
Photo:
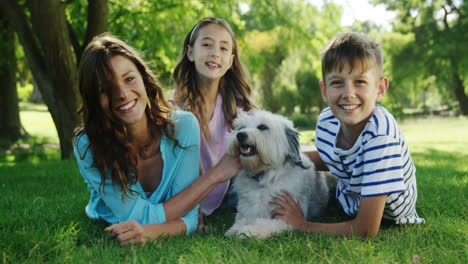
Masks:
[[[25,108],[23,108],[25,109]],[[21,114],[32,137],[57,143],[46,111]],[[210,231],[122,248],[104,223],[89,220],[89,199],[74,160],[56,148],[0,153],[0,261],[3,263],[468,263],[468,119],[406,120],[401,127],[417,168],[417,210],[426,224],[382,228],[372,241],[301,232],[266,241],[225,238],[234,214],[206,219]],[[301,143],[313,138],[302,131]],[[347,219],[338,209],[322,221]]]

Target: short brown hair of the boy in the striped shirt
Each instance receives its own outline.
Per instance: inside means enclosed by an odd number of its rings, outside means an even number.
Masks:
[[[379,68],[383,76],[383,54],[380,45],[361,32],[340,33],[333,37],[323,48],[322,56],[322,78],[338,69],[341,71],[346,62],[354,66],[357,61],[361,63],[362,71],[372,67],[372,63]],[[371,63],[369,65],[369,63]]]

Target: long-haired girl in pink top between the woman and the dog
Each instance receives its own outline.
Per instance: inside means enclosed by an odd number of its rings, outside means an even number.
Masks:
[[[204,18],[190,30],[174,70],[174,81],[176,105],[198,119],[201,167],[203,172],[211,173],[226,152],[226,133],[232,129],[237,111],[253,108],[248,73],[226,21]],[[221,205],[228,186],[229,181],[219,184],[202,200],[203,215],[210,215]],[[225,202],[233,207],[232,199]]]

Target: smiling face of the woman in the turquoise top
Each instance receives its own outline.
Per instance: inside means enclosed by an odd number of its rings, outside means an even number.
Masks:
[[[109,62],[117,78],[117,88],[112,98],[109,98],[106,92],[100,93],[102,109],[107,116],[115,116],[125,125],[146,122],[148,96],[137,67],[121,55],[112,57]]]

